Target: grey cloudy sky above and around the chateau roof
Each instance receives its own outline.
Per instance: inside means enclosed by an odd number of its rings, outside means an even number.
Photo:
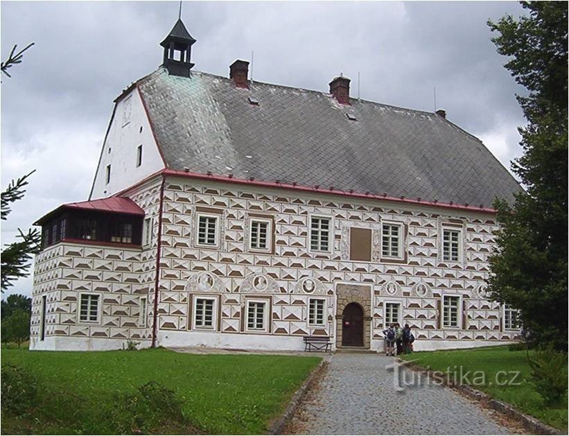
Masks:
[[[2,78],[1,186],[34,168],[28,193],[2,223],[13,240],[64,202],[87,200],[112,101],[161,62],[159,42],[178,2],[1,2],[1,58],[35,42]],[[328,91],[343,73],[362,98],[437,109],[482,139],[509,168],[520,155],[523,93],[490,41],[488,19],[518,16],[514,2],[184,2],[198,40],[195,69],[227,76],[237,58],[254,79]],[[354,95],[354,92],[352,93]],[[31,279],[9,293],[30,295]]]

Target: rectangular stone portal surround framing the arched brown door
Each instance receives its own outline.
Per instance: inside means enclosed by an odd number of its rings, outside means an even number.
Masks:
[[[369,349],[371,346],[371,285],[362,284],[337,284],[336,285],[336,347],[347,346],[344,343],[344,309],[355,304],[362,312],[362,335],[363,343],[353,345]],[[353,306],[348,315],[354,315]],[[353,322],[353,321],[349,321]],[[354,333],[355,334],[355,333]],[[347,342],[351,342],[348,340]]]

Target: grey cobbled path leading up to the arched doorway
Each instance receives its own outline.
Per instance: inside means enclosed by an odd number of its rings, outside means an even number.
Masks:
[[[334,354],[326,374],[306,395],[286,428],[290,434],[315,435],[506,435],[477,403],[453,390],[418,383],[408,370],[394,389],[393,358],[374,354]],[[403,383],[400,383],[402,385]]]

